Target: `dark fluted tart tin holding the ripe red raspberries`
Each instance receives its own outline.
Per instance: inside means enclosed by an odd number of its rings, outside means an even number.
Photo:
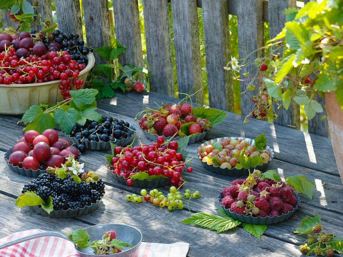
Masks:
[[[220,207],[224,210],[224,212],[232,217],[235,220],[239,220],[240,222],[244,222],[244,223],[248,223],[248,224],[255,224],[255,225],[270,225],[270,224],[276,224],[282,221],[285,221],[289,218],[291,218],[295,211],[298,209],[299,205],[300,205],[300,197],[294,193],[294,196],[297,198],[297,205],[293,208],[292,211],[288,211],[287,214],[281,214],[281,215],[275,215],[274,217],[265,217],[262,218],[261,216],[257,216],[257,217],[252,217],[252,215],[244,215],[244,214],[237,214],[234,213],[232,211],[230,211],[230,209],[227,209],[225,206],[222,205],[221,200],[223,199],[224,195],[223,193],[220,193],[218,196],[218,202],[220,204]]]

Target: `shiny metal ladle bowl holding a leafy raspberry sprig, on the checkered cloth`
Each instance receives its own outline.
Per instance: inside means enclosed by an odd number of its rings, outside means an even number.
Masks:
[[[117,234],[117,239],[129,243],[133,247],[124,247],[121,253],[108,254],[108,255],[94,255],[92,248],[80,248],[75,246],[75,250],[80,257],[94,257],[94,256],[116,256],[116,257],[134,257],[138,252],[139,246],[142,242],[143,236],[141,231],[135,227],[126,224],[101,224],[83,229],[91,236],[90,241],[99,240],[106,231],[113,230]]]

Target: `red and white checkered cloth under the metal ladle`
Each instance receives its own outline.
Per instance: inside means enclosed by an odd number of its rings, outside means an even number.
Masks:
[[[4,244],[20,237],[43,232],[32,229],[13,233],[3,239]],[[158,244],[142,242],[135,257],[186,257],[188,243]],[[45,236],[32,239],[0,250],[0,257],[79,257],[74,244],[68,240],[55,236]]]

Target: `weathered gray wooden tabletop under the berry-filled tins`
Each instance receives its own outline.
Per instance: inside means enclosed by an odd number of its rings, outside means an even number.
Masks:
[[[148,143],[141,133],[135,115],[147,106],[155,107],[154,101],[176,102],[174,98],[157,93],[130,92],[117,94],[113,99],[98,101],[99,112],[119,116],[138,128],[137,136]],[[106,193],[98,209],[86,216],[72,219],[54,219],[32,213],[27,207],[16,208],[14,199],[21,193],[24,183],[32,180],[12,172],[3,154],[12,147],[22,135],[22,127],[16,126],[20,117],[0,115],[0,237],[12,232],[27,229],[43,229],[67,233],[101,223],[126,223],[137,227],[143,233],[143,241],[158,243],[188,242],[188,256],[300,256],[298,245],[303,244],[305,236],[294,235],[290,231],[300,224],[306,215],[318,213],[327,232],[343,236],[343,186],[338,175],[330,139],[303,133],[290,128],[273,125],[259,120],[244,124],[244,117],[227,113],[227,118],[215,126],[207,140],[224,136],[244,136],[255,138],[262,132],[268,137],[268,144],[274,149],[275,157],[269,168],[276,169],[281,178],[291,175],[305,175],[315,182],[313,199],[301,196],[301,203],[295,215],[282,223],[269,225],[261,241],[237,227],[228,233],[216,234],[199,227],[180,223],[191,215],[188,208],[168,211],[167,208],[150,203],[134,204],[127,202],[127,193],[139,194],[140,189],[119,184],[106,168],[104,154],[109,151],[89,151],[81,156],[87,170],[96,171],[106,182]],[[60,133],[62,136],[62,133]],[[218,214],[213,207],[218,206],[217,196],[223,187],[236,177],[216,175],[206,170],[197,157],[199,143],[188,145],[189,157],[194,157],[191,174],[185,174],[190,182],[186,188],[199,190],[200,198],[190,201],[192,213],[205,212]],[[323,187],[323,184],[325,186]],[[159,188],[167,193],[169,187]],[[122,190],[124,192],[122,192]],[[144,202],[144,201],[143,201]],[[174,257],[174,256],[173,256]],[[177,257],[177,256],[175,256]]]

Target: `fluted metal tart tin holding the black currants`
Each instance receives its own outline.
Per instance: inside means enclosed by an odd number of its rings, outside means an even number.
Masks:
[[[132,125],[130,125],[129,128],[136,131],[136,129]],[[110,142],[103,142],[103,141],[101,141],[101,142],[96,142],[96,141],[90,142],[88,140],[81,141],[81,139],[76,139],[75,137],[71,137],[68,134],[66,134],[66,137],[71,144],[75,144],[76,146],[83,144],[86,147],[86,149],[88,149],[88,150],[97,150],[97,151],[111,150]],[[128,137],[125,139],[123,138],[121,140],[116,140],[112,143],[114,143],[116,145],[120,145],[120,146],[127,146],[127,145],[132,143],[133,139],[134,139],[134,134],[131,137]]]

